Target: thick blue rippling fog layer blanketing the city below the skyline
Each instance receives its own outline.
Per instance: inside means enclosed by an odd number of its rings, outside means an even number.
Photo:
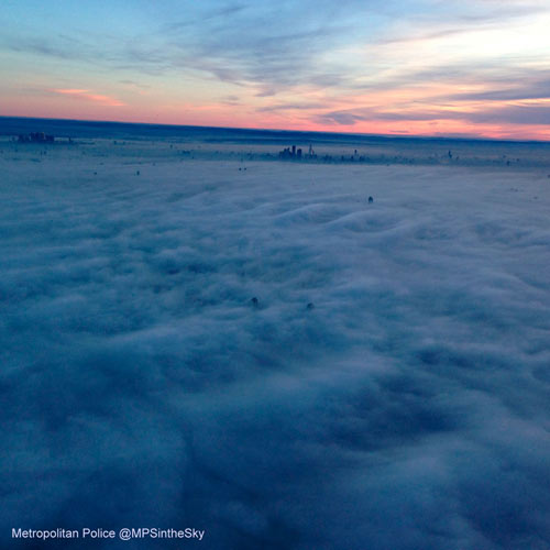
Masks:
[[[105,154],[0,160],[6,548],[548,548],[546,172]]]

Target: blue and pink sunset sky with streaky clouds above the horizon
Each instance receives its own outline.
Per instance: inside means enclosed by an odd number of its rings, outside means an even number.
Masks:
[[[0,116],[550,140],[548,0],[3,0]]]

